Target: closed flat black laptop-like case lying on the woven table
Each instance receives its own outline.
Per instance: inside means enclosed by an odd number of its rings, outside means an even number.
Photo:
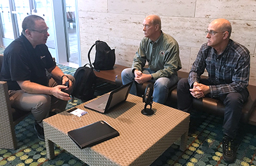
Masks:
[[[105,140],[112,139],[119,135],[115,128],[106,121],[97,121],[82,128],[68,132],[68,136],[76,142],[81,149],[99,144]]]

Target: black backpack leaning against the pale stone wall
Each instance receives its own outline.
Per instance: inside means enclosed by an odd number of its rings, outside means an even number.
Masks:
[[[90,52],[94,45],[96,45],[96,55],[94,63],[92,64],[90,59]],[[111,70],[113,69],[116,61],[115,49],[111,50],[106,42],[97,40],[88,52],[88,59],[91,66],[93,65],[94,70],[97,72],[100,70]]]

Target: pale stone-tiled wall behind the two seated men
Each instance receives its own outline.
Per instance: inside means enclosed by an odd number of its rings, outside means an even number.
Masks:
[[[189,72],[205,30],[218,18],[232,24],[231,38],[250,50],[250,84],[256,86],[256,1],[255,0],[78,0],[82,64],[96,40],[106,41],[116,52],[116,63],[131,66],[140,40],[142,22],[150,14],[161,17],[162,30],[180,46],[182,71]],[[92,61],[94,52],[92,52]]]

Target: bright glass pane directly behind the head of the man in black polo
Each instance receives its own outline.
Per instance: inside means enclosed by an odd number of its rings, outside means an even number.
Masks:
[[[20,0],[19,0],[20,1]],[[55,49],[55,38],[54,38],[54,24],[53,24],[53,18],[52,18],[52,4],[50,0],[35,0],[35,9],[33,10],[32,14],[40,15],[45,19],[45,23],[49,27],[48,33],[50,36],[48,36],[47,40],[47,47],[51,49]]]

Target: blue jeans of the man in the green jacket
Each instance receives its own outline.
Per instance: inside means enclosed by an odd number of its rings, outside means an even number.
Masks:
[[[143,68],[143,73],[145,74],[151,74],[152,72],[149,68]],[[134,73],[132,73],[131,68],[125,68],[122,73],[122,82],[123,84],[128,84],[131,81],[134,81]],[[154,82],[154,91],[153,91],[153,101],[157,103],[165,103],[166,99],[168,98],[168,93],[170,87],[175,85],[178,82],[178,76],[172,75],[172,77],[161,77],[157,80],[150,80],[150,82]],[[136,89],[136,82],[134,81],[131,87],[131,94],[137,95],[137,89]]]

